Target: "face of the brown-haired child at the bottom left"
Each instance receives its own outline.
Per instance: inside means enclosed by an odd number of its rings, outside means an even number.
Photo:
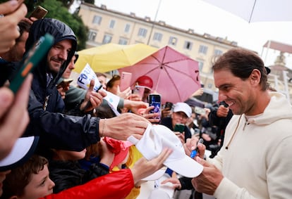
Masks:
[[[20,199],[37,199],[53,193],[54,182],[49,179],[49,169],[44,165],[44,169],[38,174],[32,174],[30,183],[25,186],[24,195]]]

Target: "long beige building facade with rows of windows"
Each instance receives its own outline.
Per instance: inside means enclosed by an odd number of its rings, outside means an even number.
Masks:
[[[197,60],[200,68],[201,83],[206,89],[216,91],[212,75],[212,60],[229,49],[236,47],[236,41],[228,41],[210,34],[197,34],[194,30],[182,30],[154,22],[149,17],[140,18],[135,13],[112,11],[107,6],[81,4],[80,17],[90,32],[87,48],[107,43],[143,43],[161,49],[164,46],[179,51]]]

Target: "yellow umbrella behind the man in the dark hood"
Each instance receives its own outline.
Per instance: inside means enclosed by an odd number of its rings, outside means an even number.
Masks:
[[[158,49],[146,44],[104,44],[102,46],[78,51],[79,58],[75,63],[75,72],[81,72],[86,63],[95,72],[109,72],[118,68],[138,63]]]

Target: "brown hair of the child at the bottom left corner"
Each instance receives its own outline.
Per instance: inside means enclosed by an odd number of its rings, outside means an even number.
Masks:
[[[40,155],[32,155],[28,162],[12,169],[3,182],[3,194],[0,198],[8,199],[13,195],[21,197],[24,194],[25,186],[31,181],[32,174],[38,174],[47,164],[48,160],[46,158]]]

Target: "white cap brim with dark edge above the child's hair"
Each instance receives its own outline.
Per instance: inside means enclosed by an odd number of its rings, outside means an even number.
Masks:
[[[19,138],[11,152],[0,161],[0,172],[23,165],[35,152],[38,141],[39,137],[37,136]]]

